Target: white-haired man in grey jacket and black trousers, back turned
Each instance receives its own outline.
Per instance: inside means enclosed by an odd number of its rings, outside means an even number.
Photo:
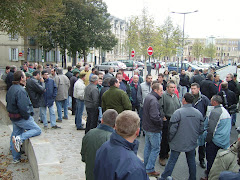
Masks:
[[[98,107],[99,107],[99,91],[97,88],[98,76],[92,75],[90,84],[84,90],[84,103],[87,110],[87,125],[85,134],[93,128],[97,127]]]

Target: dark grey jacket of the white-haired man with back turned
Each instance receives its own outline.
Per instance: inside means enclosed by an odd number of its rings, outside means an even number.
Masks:
[[[90,83],[84,90],[84,103],[86,108],[98,108],[99,91],[97,85]]]

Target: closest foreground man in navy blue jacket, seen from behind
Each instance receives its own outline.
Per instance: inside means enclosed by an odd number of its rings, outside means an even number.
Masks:
[[[149,180],[143,162],[137,157],[140,119],[126,110],[117,116],[116,132],[97,151],[95,180]]]

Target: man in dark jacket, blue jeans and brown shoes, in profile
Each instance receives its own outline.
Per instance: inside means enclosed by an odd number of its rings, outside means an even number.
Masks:
[[[159,83],[152,86],[143,104],[143,130],[145,131],[144,165],[149,176],[159,176],[155,171],[155,162],[160,152],[163,119],[160,113],[159,99],[163,94],[163,87]]]

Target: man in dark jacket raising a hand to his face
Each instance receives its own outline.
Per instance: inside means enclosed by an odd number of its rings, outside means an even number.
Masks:
[[[44,104],[43,93],[45,92],[44,79],[40,77],[40,71],[34,71],[33,77],[27,80],[26,90],[33,104],[34,120],[38,121],[39,107]]]

